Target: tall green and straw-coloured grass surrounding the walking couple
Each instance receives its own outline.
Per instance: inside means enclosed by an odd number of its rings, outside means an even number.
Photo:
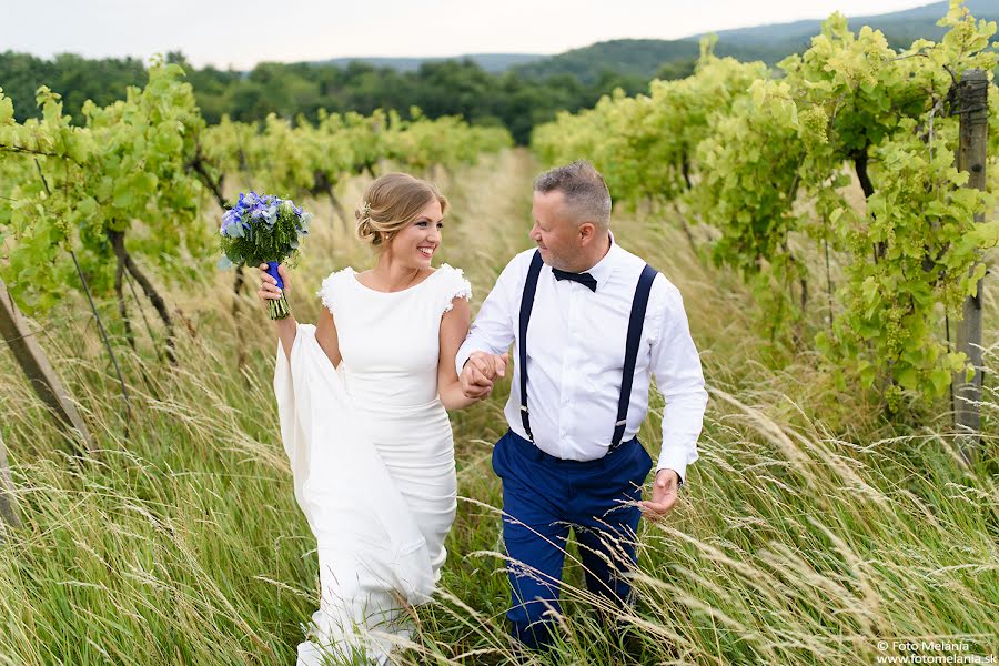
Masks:
[[[476,305],[529,244],[535,169],[511,152],[440,174],[453,204],[442,260],[465,269]],[[351,183],[346,201],[363,186]],[[571,544],[559,644],[521,658],[871,664],[897,653],[879,640],[914,638],[999,655],[991,372],[982,460],[965,468],[944,426],[890,427],[874,401],[837,390],[815,359],[755,335],[737,280],[704,265],[668,221],[638,212],[614,224],[618,242],[684,294],[712,394],[702,457],[669,518],[643,524],[635,608],[605,609],[630,638],[607,630]],[[371,261],[337,223],[315,226],[292,279],[300,321],[314,321],[323,275]],[[93,430],[97,451],[85,458],[69,453],[0,354],[0,435],[24,523],[0,544],[0,664],[293,662],[317,604],[314,543],[279,441],[273,332],[252,296],[233,316],[231,281],[220,274],[172,294],[188,322],[178,367],[154,362],[153,341],[131,352],[117,339],[130,422],[85,310],[43,322],[42,342]],[[996,367],[995,300],[987,309]],[[104,311],[110,319],[114,305]],[[251,353],[238,370],[241,339]],[[501,386],[452,415],[458,516],[441,592],[415,610],[406,664],[516,658],[503,624],[500,485],[490,468],[505,394]],[[654,395],[640,433],[653,452],[662,406]]]

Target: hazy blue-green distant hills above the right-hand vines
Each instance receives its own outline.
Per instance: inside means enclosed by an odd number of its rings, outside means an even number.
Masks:
[[[979,19],[999,20],[999,1],[968,0],[966,7]],[[849,19],[851,29],[871,26],[885,33],[894,48],[908,47],[917,38],[937,40],[944,29],[936,22],[947,13],[948,3],[935,2],[886,14],[854,17]],[[791,53],[806,50],[811,38],[819,33],[821,20],[795,21],[739,28],[716,32],[718,44],[715,52],[733,56],[739,60],[763,60],[775,64]],[[618,39],[598,42],[583,49],[574,49],[514,67],[521,74],[531,78],[546,78],[554,74],[572,74],[592,83],[605,71],[620,74],[652,78],[667,63],[689,61],[697,58],[700,34],[678,40]],[[679,68],[682,71],[682,68]]]

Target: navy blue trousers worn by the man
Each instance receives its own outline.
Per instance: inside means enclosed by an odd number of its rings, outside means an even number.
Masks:
[[[552,640],[569,528],[576,533],[586,586],[616,605],[630,585],[620,576],[635,562],[635,535],[652,458],[637,437],[596,461],[551,456],[513,431],[493,448],[493,471],[503,481],[503,539],[511,634],[531,648]]]

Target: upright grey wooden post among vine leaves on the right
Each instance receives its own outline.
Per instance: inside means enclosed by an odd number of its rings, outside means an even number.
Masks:
[[[969,188],[985,191],[986,160],[989,135],[989,80],[980,69],[967,70],[958,83],[958,112],[960,114],[960,144],[957,153],[958,171],[967,171]],[[985,213],[975,215],[976,222],[982,222]],[[953,384],[953,424],[958,432],[958,445],[961,457],[966,462],[975,460],[981,437],[981,290],[982,281],[973,296],[965,299],[965,316],[958,325],[957,351],[963,352],[975,375],[971,381],[965,380],[963,373],[955,376]]]

